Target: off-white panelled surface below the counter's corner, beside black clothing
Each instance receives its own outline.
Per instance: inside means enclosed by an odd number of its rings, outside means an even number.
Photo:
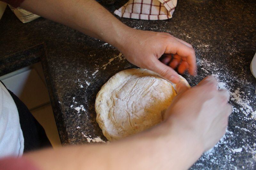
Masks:
[[[61,146],[41,63],[13,71],[1,76],[0,80],[44,127],[53,148]]]

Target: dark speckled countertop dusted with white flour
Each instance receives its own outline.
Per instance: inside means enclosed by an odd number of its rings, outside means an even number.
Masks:
[[[198,76],[184,76],[190,85],[214,75],[230,91],[234,112],[226,135],[191,169],[256,168],[256,79],[249,69],[256,51],[255,9],[255,1],[188,0],[178,2],[169,20],[121,19],[191,43]],[[95,121],[96,94],[116,72],[134,67],[116,49],[44,18],[22,24],[9,9],[0,20],[0,44],[1,75],[42,61],[62,144],[106,140]]]

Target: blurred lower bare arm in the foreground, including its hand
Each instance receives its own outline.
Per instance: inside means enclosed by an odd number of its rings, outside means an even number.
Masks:
[[[188,169],[225,133],[232,107],[228,93],[216,85],[208,77],[189,90],[178,88],[165,121],[135,136],[24,156],[42,169]]]

